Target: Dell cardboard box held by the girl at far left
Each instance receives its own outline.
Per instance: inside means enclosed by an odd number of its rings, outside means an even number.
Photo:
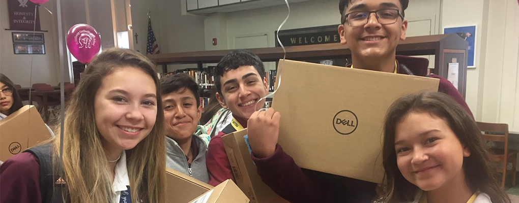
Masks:
[[[0,161],[51,137],[34,106],[26,105],[0,121]]]

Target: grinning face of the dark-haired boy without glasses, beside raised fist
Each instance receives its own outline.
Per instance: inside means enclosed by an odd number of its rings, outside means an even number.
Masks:
[[[267,79],[261,79],[254,66],[240,66],[228,70],[222,76],[222,95],[216,93],[216,99],[224,108],[229,108],[233,115],[248,120],[255,111],[257,101],[267,95]],[[258,108],[263,108],[265,100]]]

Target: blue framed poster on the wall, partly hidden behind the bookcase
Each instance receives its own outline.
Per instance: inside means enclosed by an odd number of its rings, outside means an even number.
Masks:
[[[477,26],[464,26],[464,27],[446,27],[443,28],[443,34],[455,33],[465,41],[469,42],[469,53],[468,53],[468,64],[467,68],[475,68],[476,63],[476,41],[477,41]]]

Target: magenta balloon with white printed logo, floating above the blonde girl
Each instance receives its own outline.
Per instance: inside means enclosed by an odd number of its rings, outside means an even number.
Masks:
[[[66,34],[66,46],[81,63],[89,63],[101,49],[98,32],[90,25],[76,24]]]

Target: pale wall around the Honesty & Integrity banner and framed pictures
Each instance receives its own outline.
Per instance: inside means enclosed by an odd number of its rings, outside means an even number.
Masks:
[[[56,13],[56,6],[53,2],[44,4],[53,13]],[[7,0],[0,0],[0,71],[14,83],[22,86],[29,86],[30,72],[32,69],[32,83],[58,84],[59,69],[57,60],[57,38],[56,26],[53,24],[50,13],[45,8],[39,8],[39,17],[45,37],[46,54],[14,54],[12,35],[13,32],[32,32],[32,31],[6,31],[9,29],[9,13]],[[42,32],[37,32],[42,33]]]

